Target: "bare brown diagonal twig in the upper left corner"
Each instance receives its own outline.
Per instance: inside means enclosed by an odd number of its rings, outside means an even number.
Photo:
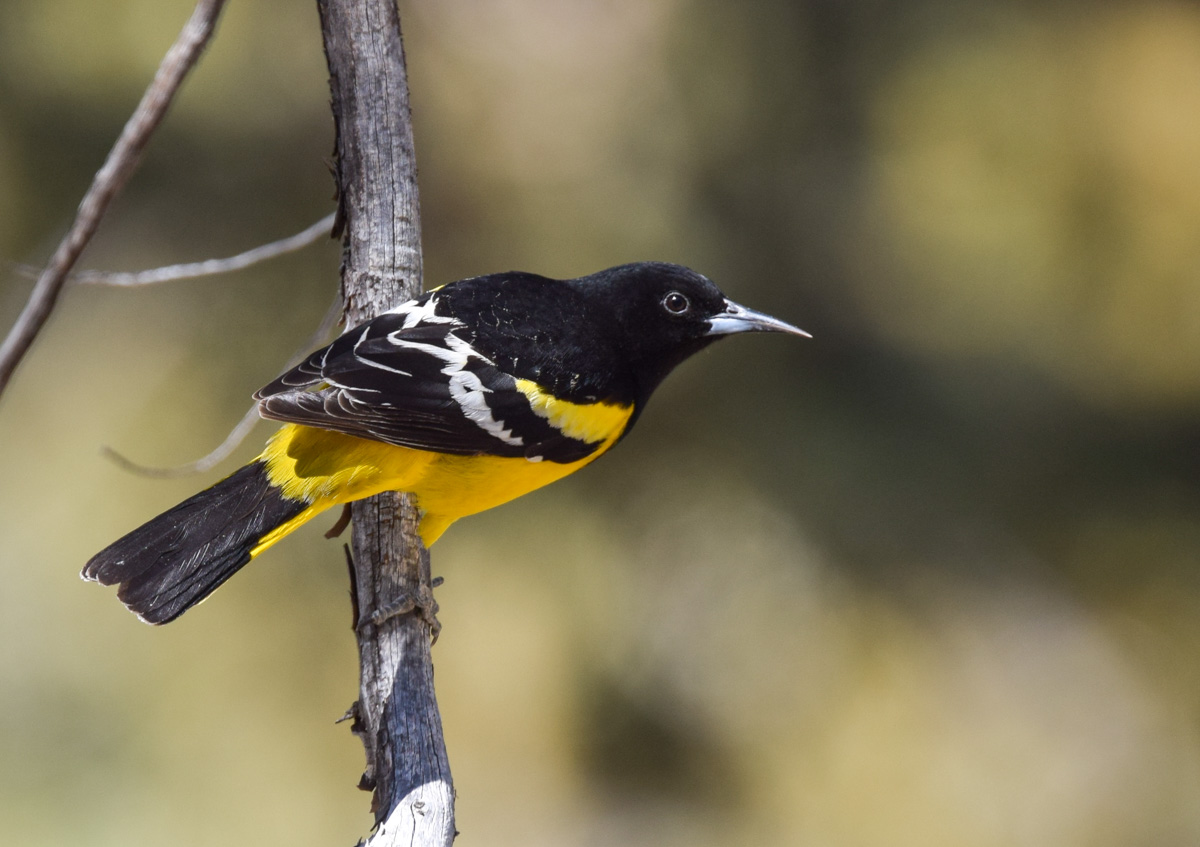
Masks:
[[[20,317],[0,347],[0,394],[7,388],[17,365],[46,325],[67,274],[96,234],[108,205],[133,174],[150,137],[167,114],[175,92],[209,43],[224,1],[199,0],[196,4],[192,17],[163,56],[154,82],[142,96],[142,102],[121,130],[104,164],[96,172],[91,187],[79,203],[79,211],[76,212],[71,229],[54,251],[54,256],[50,257],[29,295],[29,302],[25,304]]]

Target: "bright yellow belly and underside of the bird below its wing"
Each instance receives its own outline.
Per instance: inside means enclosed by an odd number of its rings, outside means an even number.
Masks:
[[[271,485],[284,497],[311,505],[263,537],[252,555],[330,506],[384,491],[403,491],[416,498],[421,540],[430,546],[458,518],[575,473],[612,446],[619,434],[620,428],[614,428],[590,456],[560,464],[520,457],[451,456],[288,424],[271,437],[259,459],[266,463]]]

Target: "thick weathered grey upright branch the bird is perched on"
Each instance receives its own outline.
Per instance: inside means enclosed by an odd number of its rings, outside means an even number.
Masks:
[[[367,320],[421,287],[421,230],[408,79],[395,0],[318,0],[337,128],[346,227],[347,323]],[[354,504],[361,685],[355,732],[374,789],[370,843],[449,845],[454,787],[433,692],[428,553],[409,498]]]

